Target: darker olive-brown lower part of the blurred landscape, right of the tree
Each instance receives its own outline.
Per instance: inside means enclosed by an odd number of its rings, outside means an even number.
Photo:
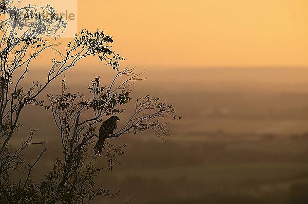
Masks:
[[[114,191],[121,189],[122,200],[137,196],[134,203],[225,203],[228,199],[229,203],[289,203],[293,188],[308,188],[306,139],[216,136],[217,140],[213,134],[214,139],[199,142],[127,139],[123,165],[103,180]],[[222,196],[226,199],[220,200]]]

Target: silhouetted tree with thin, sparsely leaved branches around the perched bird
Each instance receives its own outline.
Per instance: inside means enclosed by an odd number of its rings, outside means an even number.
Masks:
[[[11,0],[0,3],[0,15],[8,15],[0,21],[0,203],[88,203],[98,195],[110,195],[112,193],[107,189],[96,185],[102,167],[93,163],[99,159],[93,155],[93,143],[97,137],[95,128],[104,116],[124,111],[125,104],[131,100],[132,82],[142,80],[141,74],[135,74],[129,67],[119,69],[119,62],[124,59],[112,50],[113,39],[103,31],[83,29],[64,45],[57,36],[64,32],[67,22],[56,14],[54,8],[50,5],[18,5]],[[42,13],[48,15],[42,16]],[[21,86],[21,81],[30,72],[31,62],[48,50],[55,52],[57,57],[52,59],[46,81]],[[61,93],[47,95],[50,104],[40,99],[54,79],[90,56],[98,57],[112,67],[116,74],[111,84],[101,86],[100,78],[95,78],[88,86],[91,97],[86,98],[84,94],[69,92],[63,80]],[[51,110],[63,149],[63,154],[55,158],[53,168],[41,183],[34,183],[31,173],[47,148],[42,149],[33,164],[28,164],[23,157],[29,144],[34,143],[35,130],[20,147],[11,144],[13,137],[19,137],[19,119],[28,105]],[[90,118],[87,117],[89,113]],[[161,122],[165,117],[181,118],[172,105],[149,95],[140,97],[126,125],[110,137],[150,129],[162,138],[170,134],[165,123]],[[44,144],[43,141],[38,143]],[[118,162],[118,156],[124,154],[123,147],[106,143],[109,170],[114,162]],[[25,169],[26,173],[16,182],[10,172],[18,169]]]

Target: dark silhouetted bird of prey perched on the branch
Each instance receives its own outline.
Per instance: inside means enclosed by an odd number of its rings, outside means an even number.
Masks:
[[[99,130],[99,140],[94,146],[95,153],[102,155],[103,146],[105,140],[117,129],[117,121],[120,120],[118,116],[111,116],[109,119],[105,120]]]

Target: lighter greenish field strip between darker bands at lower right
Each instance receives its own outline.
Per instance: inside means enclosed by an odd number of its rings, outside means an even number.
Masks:
[[[129,176],[142,178],[157,178],[173,180],[178,177],[191,182],[211,182],[223,184],[241,184],[243,182],[272,182],[273,180],[290,180],[293,177],[308,172],[307,164],[275,164],[275,163],[245,163],[245,164],[204,164],[202,166],[184,166],[171,168],[153,168],[142,170],[118,171],[119,179]],[[307,175],[308,179],[308,175]]]

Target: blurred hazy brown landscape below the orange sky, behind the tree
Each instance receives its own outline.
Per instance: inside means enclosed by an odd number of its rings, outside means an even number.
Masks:
[[[95,76],[108,84],[114,74],[93,70],[69,71],[71,91],[87,93]],[[32,79],[43,76],[36,70]],[[126,144],[125,155],[122,165],[106,169],[99,180],[117,195],[94,203],[307,203],[307,76],[308,69],[298,68],[147,71],[147,80],[135,85],[134,99],[148,93],[166,99],[183,118],[168,124],[173,135],[166,141],[151,132],[111,140]],[[25,85],[32,79],[26,78]],[[48,92],[59,93],[60,82]],[[60,150],[59,132],[50,112],[37,107],[26,111],[18,134],[36,128],[36,137],[48,141],[36,169],[39,180]],[[129,113],[127,108],[120,115],[118,126]],[[41,148],[28,152],[29,161]],[[100,159],[103,166],[105,159]]]

